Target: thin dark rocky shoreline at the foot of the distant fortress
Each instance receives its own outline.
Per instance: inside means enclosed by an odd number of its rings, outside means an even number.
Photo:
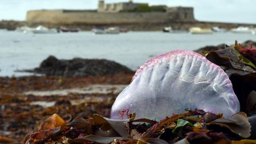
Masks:
[[[222,22],[212,22],[212,21],[169,21],[169,22],[159,22],[159,23],[27,23],[25,21],[0,21],[0,29],[15,30],[17,27],[23,25],[28,25],[29,27],[37,27],[38,25],[44,25],[49,28],[56,28],[60,26],[69,28],[80,28],[81,30],[91,30],[92,28],[107,28],[107,27],[120,27],[127,28],[131,31],[160,31],[164,27],[171,26],[174,29],[188,30],[190,27],[202,27],[202,28],[212,28],[212,27],[222,27],[222,28],[236,28],[239,26],[245,27],[256,27],[256,24],[247,23],[222,23]]]

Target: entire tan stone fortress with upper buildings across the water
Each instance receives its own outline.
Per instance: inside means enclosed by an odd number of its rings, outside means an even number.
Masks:
[[[160,11],[151,11],[151,8],[155,7],[160,8]],[[105,4],[104,1],[100,0],[98,1],[98,9],[95,11],[65,9],[28,11],[26,22],[28,24],[103,25],[196,21],[191,7],[167,7],[165,5],[155,7],[133,1]]]

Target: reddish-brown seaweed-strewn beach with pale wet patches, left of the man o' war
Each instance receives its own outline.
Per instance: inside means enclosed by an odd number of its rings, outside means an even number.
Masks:
[[[58,113],[65,120],[110,117],[116,96],[132,75],[56,78],[28,76],[0,78],[0,135],[21,142],[41,120]]]

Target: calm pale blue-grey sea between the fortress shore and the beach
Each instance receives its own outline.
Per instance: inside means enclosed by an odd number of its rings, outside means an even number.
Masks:
[[[204,46],[256,41],[253,34],[163,33],[129,31],[121,34],[79,33],[33,34],[0,30],[0,76],[27,76],[18,72],[34,69],[48,56],[57,59],[108,59],[136,70],[152,57],[172,50],[196,50]]]

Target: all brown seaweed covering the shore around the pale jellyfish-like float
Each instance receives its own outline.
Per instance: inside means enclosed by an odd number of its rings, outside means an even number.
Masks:
[[[87,101],[72,105],[69,100],[99,97],[99,94],[69,94],[36,97],[28,90],[84,87],[88,84],[129,84],[129,76],[87,78],[1,78],[0,127],[12,133],[0,143],[256,143],[255,49],[235,42],[234,46],[209,51],[206,58],[219,65],[231,79],[241,104],[232,117],[203,110],[184,110],[163,120],[136,119],[136,113],[120,111],[121,120],[111,120],[109,101]],[[57,100],[52,107],[30,105],[32,101]],[[153,113],[152,113],[153,116]],[[27,136],[25,136],[25,134]],[[1,135],[1,133],[0,133]]]

